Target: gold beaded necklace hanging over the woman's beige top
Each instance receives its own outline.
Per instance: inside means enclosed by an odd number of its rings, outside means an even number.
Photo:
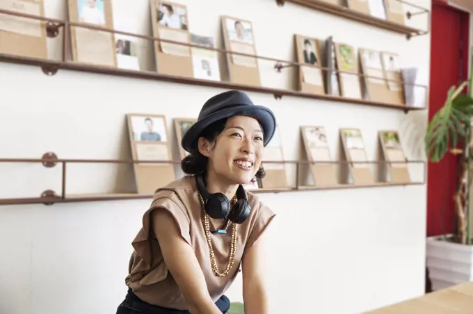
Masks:
[[[207,245],[209,245],[210,263],[212,265],[212,270],[214,271],[214,274],[216,276],[219,276],[219,277],[227,276],[227,274],[230,273],[230,270],[232,270],[232,267],[233,267],[233,264],[234,264],[234,261],[235,261],[236,224],[232,224],[232,240],[230,241],[230,256],[228,257],[227,267],[225,268],[225,270],[223,272],[220,272],[220,270],[218,270],[217,261],[215,259],[214,246],[212,245],[209,215],[205,211],[204,199],[202,199],[202,195],[200,195],[199,192],[198,192],[198,196],[199,196],[199,201],[200,201],[200,207],[202,208],[202,220],[203,220],[204,229],[205,229],[205,237],[207,238]],[[234,195],[230,206],[233,206],[233,204],[235,204],[235,203],[236,203],[236,195]]]

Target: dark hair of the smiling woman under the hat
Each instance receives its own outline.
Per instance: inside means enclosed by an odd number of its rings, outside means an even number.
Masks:
[[[200,154],[198,140],[199,138],[205,138],[209,142],[214,142],[216,137],[225,129],[226,123],[227,119],[225,118],[210,124],[204,129],[204,131],[202,131],[202,133],[200,133],[198,138],[195,139],[195,142],[192,144],[190,154],[181,160],[181,168],[185,174],[202,174],[207,172],[207,163],[209,163],[209,158]],[[255,176],[259,179],[263,179],[264,176],[266,176],[264,167],[259,167],[259,170],[256,172]]]

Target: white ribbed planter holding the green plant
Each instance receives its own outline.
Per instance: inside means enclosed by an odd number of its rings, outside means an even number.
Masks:
[[[459,245],[442,238],[427,238],[427,267],[432,290],[473,281],[473,245]]]

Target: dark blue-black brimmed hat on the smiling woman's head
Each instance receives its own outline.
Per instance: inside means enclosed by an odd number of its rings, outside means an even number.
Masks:
[[[239,90],[230,90],[217,94],[207,100],[200,110],[197,122],[182,137],[182,148],[191,151],[200,133],[210,124],[227,117],[246,115],[254,117],[261,124],[264,132],[264,146],[273,138],[276,119],[273,112],[264,106],[256,106],[250,97]]]

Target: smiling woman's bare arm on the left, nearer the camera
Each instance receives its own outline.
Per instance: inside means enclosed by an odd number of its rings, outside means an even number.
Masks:
[[[157,208],[152,224],[163,258],[192,314],[222,314],[212,301],[192,247],[184,240],[173,215]]]

